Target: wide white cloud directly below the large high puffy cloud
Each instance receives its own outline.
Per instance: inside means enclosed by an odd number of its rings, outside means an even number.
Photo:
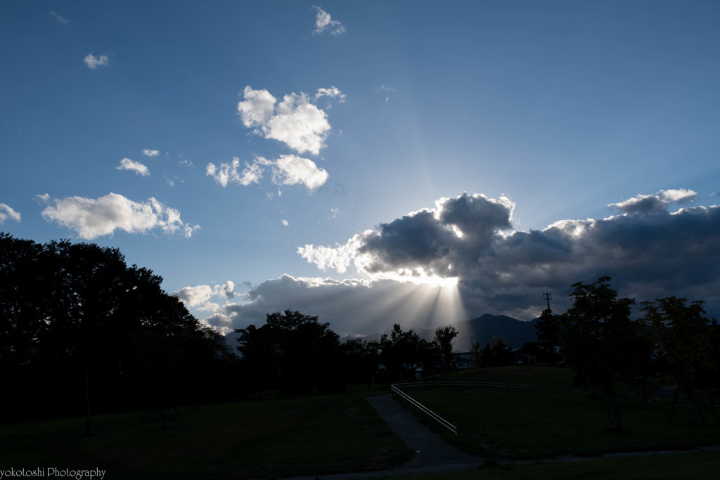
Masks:
[[[205,173],[215,178],[218,184],[225,187],[228,184],[248,186],[259,184],[266,168],[271,170],[272,182],[276,185],[302,184],[312,191],[318,189],[328,180],[328,172],[318,168],[315,162],[297,155],[281,155],[277,160],[268,160],[256,157],[253,163],[245,163],[240,171],[240,159],[233,158],[230,163],[208,163]]]

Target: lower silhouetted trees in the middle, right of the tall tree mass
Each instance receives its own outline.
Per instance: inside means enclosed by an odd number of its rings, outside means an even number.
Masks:
[[[420,369],[446,371],[458,335],[454,327],[438,327],[428,342],[395,324],[380,340],[341,340],[329,323],[291,310],[269,313],[264,325],[235,332],[248,388],[286,394],[341,391],[348,383],[369,388],[377,381],[414,379]]]

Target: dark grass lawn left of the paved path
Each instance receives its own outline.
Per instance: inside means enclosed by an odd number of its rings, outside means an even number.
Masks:
[[[358,394],[0,427],[0,468],[102,468],[108,479],[213,479],[392,468],[413,457]]]

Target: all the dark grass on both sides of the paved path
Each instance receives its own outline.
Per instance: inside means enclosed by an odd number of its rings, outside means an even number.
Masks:
[[[541,367],[482,368],[436,379],[572,386],[572,373]],[[379,470],[413,458],[366,394],[359,388],[326,397],[183,408],[166,428],[157,415],[102,415],[94,418],[90,437],[84,435],[84,418],[0,425],[0,470],[101,468],[111,480],[246,479]],[[668,422],[669,404],[619,399],[625,429],[613,433],[604,427],[606,403],[582,393],[423,387],[413,395],[459,425],[459,438],[449,437],[451,443],[511,462],[720,443],[719,422],[710,415],[709,426],[693,422],[685,406]],[[701,479],[712,478],[718,463],[715,452],[540,465],[490,462],[480,471],[424,478]]]

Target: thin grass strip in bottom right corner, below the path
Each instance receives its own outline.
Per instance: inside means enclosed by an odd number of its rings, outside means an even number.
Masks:
[[[477,471],[413,475],[411,478],[413,480],[706,480],[716,478],[719,464],[719,452],[701,452],[536,465],[498,466],[489,463]],[[410,476],[394,478],[410,478]]]

